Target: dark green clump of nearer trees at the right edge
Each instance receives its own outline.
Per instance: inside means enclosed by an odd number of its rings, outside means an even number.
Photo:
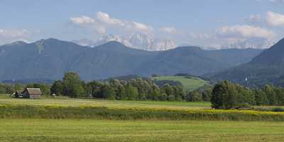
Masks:
[[[284,88],[265,85],[250,89],[227,80],[212,89],[212,108],[232,109],[251,105],[284,105]]]

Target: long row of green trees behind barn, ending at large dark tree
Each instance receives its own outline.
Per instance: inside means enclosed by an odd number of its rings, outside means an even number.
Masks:
[[[13,94],[26,87],[40,88],[43,95],[56,94],[72,98],[102,98],[117,100],[156,100],[175,102],[209,102],[211,88],[185,92],[181,84],[155,84],[153,80],[108,80],[84,82],[75,72],[65,73],[62,80],[53,84],[0,84],[0,94]]]

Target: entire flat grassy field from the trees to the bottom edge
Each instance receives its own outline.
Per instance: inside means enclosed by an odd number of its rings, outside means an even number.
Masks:
[[[257,113],[208,102],[1,96],[0,141],[283,141],[284,113]]]

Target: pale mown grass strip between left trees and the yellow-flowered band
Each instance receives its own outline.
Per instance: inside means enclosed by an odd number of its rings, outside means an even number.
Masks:
[[[105,99],[16,99],[0,95],[1,104],[58,106],[58,107],[108,107],[116,109],[156,108],[156,109],[209,109],[209,102],[155,102],[155,101],[111,101]]]

